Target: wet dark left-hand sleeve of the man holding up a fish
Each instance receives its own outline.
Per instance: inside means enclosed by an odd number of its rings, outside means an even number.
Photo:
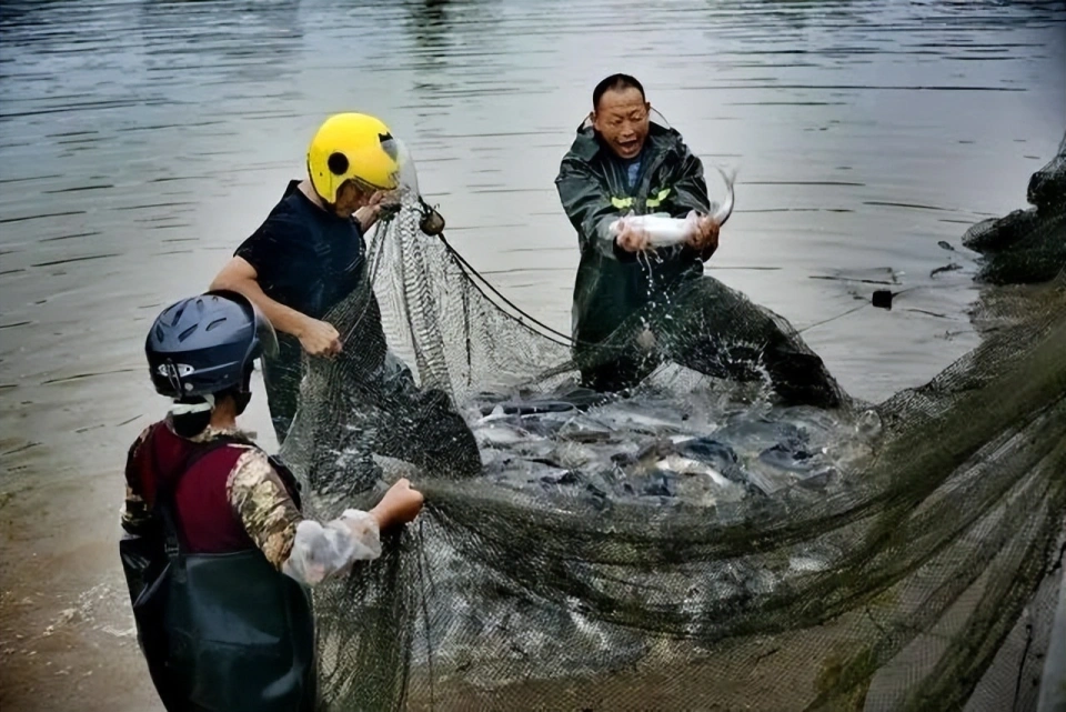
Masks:
[[[602,176],[585,161],[566,156],[555,178],[555,189],[566,217],[577,230],[582,251],[596,249],[607,257],[628,259],[628,253],[619,249],[609,230],[622,212],[612,204]]]

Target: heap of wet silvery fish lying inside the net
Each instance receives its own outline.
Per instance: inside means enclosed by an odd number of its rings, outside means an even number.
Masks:
[[[716,508],[716,517],[730,518],[744,500],[834,491],[841,458],[865,452],[855,423],[838,414],[722,410],[704,395],[678,401],[654,389],[593,398],[567,383],[481,393],[470,403],[465,417],[491,481],[536,497],[595,504],[610,495]],[[856,444],[845,447],[848,438]]]

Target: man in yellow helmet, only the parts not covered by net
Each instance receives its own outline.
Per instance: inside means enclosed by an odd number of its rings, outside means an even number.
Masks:
[[[363,234],[380,215],[382,195],[398,187],[400,144],[380,119],[339,113],[318,129],[306,161],[308,178],[290,181],[212,282],[248,297],[280,332],[279,354],[263,373],[279,441],[295,415],[301,349],[318,357],[342,348],[322,318],[363,283]],[[376,302],[369,309],[371,335],[383,343]]]

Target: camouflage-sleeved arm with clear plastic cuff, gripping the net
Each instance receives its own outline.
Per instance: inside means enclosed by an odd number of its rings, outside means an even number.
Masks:
[[[380,556],[380,531],[410,521],[421,508],[421,495],[402,481],[369,512],[345,510],[325,524],[304,519],[259,450],[241,455],[228,489],[244,530],[266,560],[306,585],[342,574],[356,561]]]

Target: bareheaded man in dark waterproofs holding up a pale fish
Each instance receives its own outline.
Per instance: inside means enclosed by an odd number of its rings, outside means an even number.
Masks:
[[[822,360],[781,317],[703,274],[733,210],[732,180],[712,212],[702,162],[651,120],[635,78],[612,74],[592,99],[555,179],[581,247],[573,339],[584,384],[632,388],[668,355],[742,381],[761,378],[761,364],[781,399],[838,405]]]

